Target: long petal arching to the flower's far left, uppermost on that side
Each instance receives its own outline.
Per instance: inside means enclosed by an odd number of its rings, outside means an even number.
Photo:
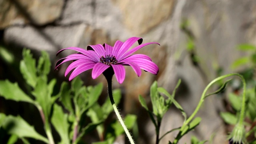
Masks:
[[[75,50],[77,52],[84,54],[85,56],[88,56],[95,62],[99,62],[99,60],[100,60],[100,57],[98,57],[96,52],[94,52],[93,50],[84,50],[83,48],[76,48],[76,47],[64,48],[64,49],[58,51],[56,55],[58,56],[58,54],[60,54],[60,52],[62,52],[63,50]]]

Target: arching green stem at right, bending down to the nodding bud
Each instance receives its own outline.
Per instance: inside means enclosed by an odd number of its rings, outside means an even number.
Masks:
[[[240,117],[239,117],[239,124],[243,124],[244,122],[244,110],[245,110],[245,92],[246,92],[246,83],[245,83],[245,80],[244,80],[244,77],[240,74],[226,74],[224,76],[220,76],[218,78],[215,78],[214,80],[212,80],[212,82],[210,82],[206,88],[204,89],[204,92],[202,93],[202,96],[200,98],[200,101],[198,103],[198,105],[196,106],[196,109],[194,110],[194,112],[191,114],[191,116],[184,122],[184,124],[182,125],[182,127],[180,128],[180,132],[182,132],[184,130],[184,128],[189,124],[189,122],[194,118],[194,116],[197,114],[198,110],[200,109],[202,103],[204,102],[204,98],[205,98],[205,95],[206,95],[206,92],[207,90],[210,88],[210,86],[212,86],[212,84],[214,84],[215,82],[221,80],[221,79],[224,79],[224,78],[227,78],[227,77],[230,77],[230,76],[239,76],[241,79],[242,79],[242,82],[243,82],[243,98],[242,98],[242,107],[241,107],[241,112],[240,112]],[[177,144],[178,140],[180,138],[175,138],[173,144]]]

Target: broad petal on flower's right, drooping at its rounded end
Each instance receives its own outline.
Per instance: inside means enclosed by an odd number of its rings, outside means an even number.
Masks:
[[[158,66],[154,62],[144,59],[144,58],[136,57],[136,55],[132,55],[128,58],[125,58],[122,61],[123,62],[133,62],[135,64],[138,64],[138,66],[140,66],[140,68],[142,70],[145,70],[145,71],[150,72],[155,75],[158,74],[158,71],[159,71]]]

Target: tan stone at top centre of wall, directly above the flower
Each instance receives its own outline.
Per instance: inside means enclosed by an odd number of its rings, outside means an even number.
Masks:
[[[123,13],[124,25],[134,34],[144,34],[169,18],[174,0],[112,0]]]

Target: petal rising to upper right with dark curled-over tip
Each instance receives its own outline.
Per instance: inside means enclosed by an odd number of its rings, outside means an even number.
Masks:
[[[128,38],[124,44],[121,46],[120,50],[118,51],[118,54],[115,55],[117,59],[119,59],[122,55],[125,54],[125,52],[127,52],[127,50],[135,43],[137,42],[139,44],[142,43],[142,38],[137,38],[137,37],[131,37],[131,38]]]

